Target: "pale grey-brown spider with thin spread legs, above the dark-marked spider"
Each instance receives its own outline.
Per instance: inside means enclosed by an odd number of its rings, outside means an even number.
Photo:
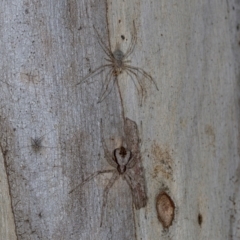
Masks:
[[[137,33],[136,33],[136,27],[135,27],[134,21],[133,21],[134,34],[133,34],[133,37],[131,39],[131,43],[130,43],[130,45],[129,45],[129,47],[128,47],[128,49],[127,49],[125,54],[120,49],[120,44],[119,43],[116,44],[116,48],[112,52],[111,48],[108,47],[103,42],[103,40],[102,40],[100,34],[98,33],[97,29],[95,28],[95,26],[93,26],[93,28],[95,30],[95,33],[96,33],[97,37],[98,37],[98,43],[99,43],[100,47],[103,49],[103,51],[105,52],[105,54],[108,57],[108,58],[105,58],[105,60],[107,62],[109,62],[109,63],[104,64],[104,65],[96,68],[91,73],[86,75],[76,85],[82,84],[85,80],[87,80],[91,76],[96,75],[99,72],[103,71],[104,69],[108,68],[109,70],[108,70],[106,78],[104,80],[98,103],[102,102],[109,95],[109,93],[111,92],[111,90],[113,88],[113,85],[117,81],[117,77],[122,72],[126,72],[127,73],[127,75],[131,78],[131,80],[133,81],[135,87],[137,88],[137,90],[139,92],[140,90],[137,87],[136,82],[134,81],[134,77],[136,78],[137,83],[138,83],[138,85],[139,85],[139,87],[141,89],[141,92],[140,92],[141,97],[143,97],[144,86],[143,86],[142,78],[139,77],[139,74],[142,75],[142,77],[145,77],[149,81],[153,82],[155,87],[156,87],[156,89],[159,90],[156,82],[154,81],[154,79],[152,78],[152,76],[149,73],[147,73],[142,68],[138,68],[138,67],[134,67],[134,66],[129,65],[129,63],[131,61],[130,60],[126,60],[133,53],[135,45],[136,45],[136,42],[137,42]]]

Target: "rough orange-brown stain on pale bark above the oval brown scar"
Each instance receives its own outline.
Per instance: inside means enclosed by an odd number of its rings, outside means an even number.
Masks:
[[[152,155],[154,160],[153,178],[162,174],[164,178],[173,178],[173,159],[168,146],[161,147],[156,142],[152,145]]]

